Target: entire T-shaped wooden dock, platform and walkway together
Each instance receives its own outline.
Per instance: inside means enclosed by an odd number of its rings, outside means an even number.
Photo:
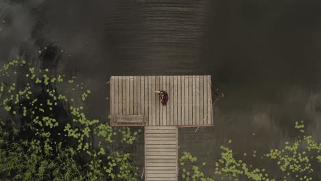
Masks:
[[[213,125],[212,114],[209,75],[110,77],[110,125],[145,126],[145,180],[177,180],[178,127]]]

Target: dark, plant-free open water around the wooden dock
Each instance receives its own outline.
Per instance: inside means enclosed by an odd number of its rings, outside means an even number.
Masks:
[[[213,128],[179,132],[209,176],[228,139],[239,158],[268,152],[304,120],[321,141],[320,30],[321,1],[0,0],[0,59],[88,82],[91,117],[108,115],[110,75],[211,75]],[[143,166],[143,144],[134,155]]]

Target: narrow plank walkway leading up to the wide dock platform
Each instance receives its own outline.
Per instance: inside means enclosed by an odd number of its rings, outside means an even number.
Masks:
[[[145,126],[145,180],[177,180],[177,126]]]

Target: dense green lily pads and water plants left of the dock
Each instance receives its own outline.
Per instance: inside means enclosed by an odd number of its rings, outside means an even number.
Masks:
[[[0,179],[139,180],[131,154],[121,148],[138,141],[141,130],[88,119],[91,90],[75,76],[68,80],[14,60],[0,69],[0,82]],[[96,146],[93,136],[101,140]]]

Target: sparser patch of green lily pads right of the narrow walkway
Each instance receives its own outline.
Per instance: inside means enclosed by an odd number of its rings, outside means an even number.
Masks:
[[[267,154],[263,154],[259,159],[261,162],[270,162],[277,165],[279,169],[278,176],[283,180],[320,180],[319,171],[321,170],[321,143],[313,141],[312,136],[300,135],[305,132],[304,122],[296,122],[295,128],[298,130],[298,138],[293,143],[285,142],[285,147],[281,149],[271,149]],[[232,141],[229,140],[228,144]],[[221,157],[215,162],[215,178],[218,180],[277,180],[273,176],[273,171],[259,166],[254,167],[243,161],[243,158],[249,156],[244,153],[242,159],[235,158],[232,149],[222,145]],[[257,158],[257,152],[252,153],[253,158]],[[210,180],[206,178],[195,161],[197,158],[188,152],[183,152],[180,158],[182,167],[182,178],[185,180]],[[271,162],[272,161],[272,162]],[[189,171],[187,171],[189,170]]]

